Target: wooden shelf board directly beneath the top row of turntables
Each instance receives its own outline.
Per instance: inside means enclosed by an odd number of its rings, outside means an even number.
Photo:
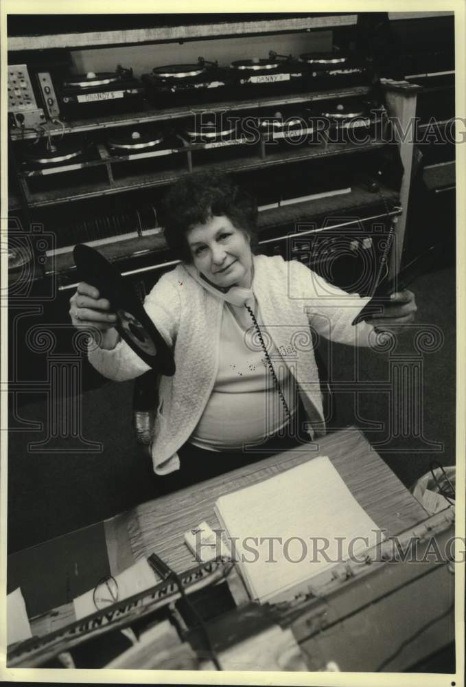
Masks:
[[[122,113],[116,115],[108,115],[106,117],[99,117],[96,115],[93,120],[73,120],[65,124],[65,131],[61,126],[53,126],[45,124],[45,135],[61,135],[61,133],[82,133],[84,131],[95,131],[97,129],[114,128],[115,126],[130,126],[136,124],[149,124],[150,122],[160,122],[162,120],[182,119],[183,117],[192,117],[206,111],[229,111],[235,112],[247,109],[257,109],[260,107],[272,107],[279,105],[292,105],[301,102],[315,102],[318,100],[329,100],[331,98],[355,98],[358,95],[366,95],[370,89],[368,86],[354,86],[344,89],[330,89],[327,91],[305,91],[298,94],[281,95],[271,98],[270,96],[264,98],[253,98],[244,100],[235,100],[235,102],[213,102],[195,104],[191,106],[164,108],[164,109],[148,109],[147,111],[140,111],[137,113]],[[20,141],[23,139],[34,139],[37,137],[36,133],[25,133],[21,135],[21,131],[11,130],[11,137],[13,141]]]

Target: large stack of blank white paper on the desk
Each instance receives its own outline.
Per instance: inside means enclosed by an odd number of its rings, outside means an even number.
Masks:
[[[380,541],[380,530],[326,456],[220,497],[215,512],[259,601],[361,559]]]

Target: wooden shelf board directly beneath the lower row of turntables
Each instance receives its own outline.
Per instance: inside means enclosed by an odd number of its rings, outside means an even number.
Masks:
[[[329,144],[328,146],[301,146],[301,148],[293,150],[288,155],[283,153],[272,153],[266,156],[265,159],[259,157],[244,157],[236,160],[229,160],[225,162],[216,162],[212,164],[202,164],[196,166],[194,171],[200,169],[215,169],[222,172],[241,172],[249,170],[263,169],[271,166],[279,166],[282,164],[290,164],[292,162],[334,157],[336,155],[351,155],[353,153],[364,153],[375,148],[382,148],[386,145],[385,142],[370,142],[369,144]],[[93,184],[88,187],[82,187],[82,190],[77,191],[76,188],[61,190],[60,192],[49,191],[31,194],[30,207],[43,207],[45,205],[58,205],[59,203],[67,203],[69,201],[79,201],[95,196],[113,195],[138,188],[150,188],[156,186],[164,186],[173,183],[178,179],[180,174],[185,174],[187,170],[170,170],[170,172],[159,172],[156,174],[144,175],[140,174],[132,177],[124,177],[115,179],[115,185],[112,187],[104,184]]]

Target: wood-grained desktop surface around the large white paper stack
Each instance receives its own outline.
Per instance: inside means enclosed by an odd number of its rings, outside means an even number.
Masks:
[[[196,484],[135,508],[138,527],[130,537],[136,557],[154,550],[177,572],[194,562],[183,534],[206,520],[220,527],[213,513],[218,497],[256,484],[312,458],[327,455],[349,490],[375,524],[388,536],[399,534],[426,519],[426,510],[371,448],[362,433],[344,429],[320,438],[301,449],[286,451],[207,482]],[[137,530],[137,531],[135,531]]]

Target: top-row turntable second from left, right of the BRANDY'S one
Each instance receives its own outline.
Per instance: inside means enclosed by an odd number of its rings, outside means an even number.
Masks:
[[[220,98],[228,84],[226,71],[215,62],[200,57],[197,63],[154,67],[143,74],[148,98],[156,105],[165,106],[176,95],[176,102],[204,102]]]

